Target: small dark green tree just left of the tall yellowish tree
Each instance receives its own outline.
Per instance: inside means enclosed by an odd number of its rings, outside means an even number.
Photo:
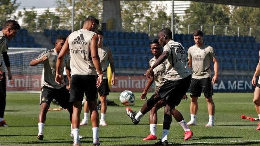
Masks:
[[[60,17],[50,12],[49,9],[47,9],[44,12],[44,14],[38,17],[38,21],[37,21],[38,30],[43,31],[44,29],[51,28],[51,21],[52,21],[52,29],[59,29]]]

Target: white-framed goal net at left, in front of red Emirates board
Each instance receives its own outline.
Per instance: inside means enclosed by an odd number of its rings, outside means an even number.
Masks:
[[[8,71],[4,65],[6,91],[40,91],[43,64],[30,66],[30,62],[46,50],[46,48],[9,48],[8,56],[13,79],[8,80]]]

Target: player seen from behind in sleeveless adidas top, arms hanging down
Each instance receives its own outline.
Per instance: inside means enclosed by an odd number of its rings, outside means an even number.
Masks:
[[[97,111],[97,88],[103,82],[103,72],[97,52],[98,36],[95,33],[99,21],[89,16],[83,24],[83,28],[72,32],[66,39],[57,58],[56,82],[63,82],[61,67],[64,56],[70,53],[70,102],[73,102],[72,126],[74,146],[79,146],[79,125],[82,100],[85,93],[91,115],[93,145],[99,142],[99,113]],[[99,73],[97,77],[96,74]],[[97,77],[97,78],[96,78]]]

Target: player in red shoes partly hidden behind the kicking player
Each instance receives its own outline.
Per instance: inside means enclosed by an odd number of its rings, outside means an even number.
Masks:
[[[162,47],[160,46],[158,39],[154,39],[150,43],[150,47],[151,47],[151,52],[154,55],[154,57],[149,61],[149,67],[151,68],[151,66],[153,66],[155,61],[162,54]],[[160,85],[160,83],[162,82],[162,80],[164,79],[164,77],[166,75],[166,73],[165,73],[166,64],[167,64],[167,60],[165,60],[163,63],[161,63],[160,65],[158,65],[157,67],[155,67],[153,69],[152,76],[151,76],[151,78],[148,79],[148,82],[145,86],[145,89],[144,89],[143,93],[141,94],[142,100],[147,99],[147,97],[146,97],[147,91],[151,87],[151,85],[154,81],[155,81],[155,85],[157,87]],[[185,95],[185,97],[187,97],[187,96]],[[144,141],[146,141],[146,140],[157,140],[157,136],[156,136],[157,110],[159,110],[160,108],[162,108],[164,106],[165,106],[165,102],[160,100],[151,109],[150,114],[149,114],[151,134],[148,135],[146,138],[144,138],[143,139]],[[172,111],[172,115],[175,118],[175,120],[181,125],[181,127],[183,128],[183,130],[185,132],[184,133],[184,135],[185,135],[184,140],[189,140],[192,137],[193,133],[189,129],[189,127],[187,126],[187,124],[186,124],[183,116],[181,115],[181,113],[177,109],[174,109]]]

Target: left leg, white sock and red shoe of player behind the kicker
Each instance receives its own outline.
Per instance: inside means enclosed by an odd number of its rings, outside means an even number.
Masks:
[[[157,111],[165,105],[165,102],[160,100],[158,101],[150,111],[149,122],[150,122],[150,135],[144,138],[144,141],[147,140],[157,140],[156,136],[156,124],[157,124]]]

